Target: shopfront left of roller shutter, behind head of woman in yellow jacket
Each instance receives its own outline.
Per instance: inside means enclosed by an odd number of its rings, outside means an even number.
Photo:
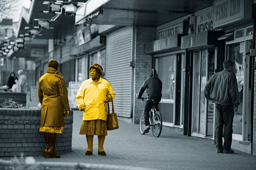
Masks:
[[[105,69],[106,37],[99,36],[98,31],[95,31],[95,27],[98,30],[97,25],[88,25],[86,27],[81,25],[78,27],[77,32],[73,34],[74,48],[71,51],[71,56],[75,58],[74,81],[76,82],[83,82],[90,77],[89,66],[91,64],[98,63],[102,65],[103,70]],[[92,32],[91,29],[93,29]]]

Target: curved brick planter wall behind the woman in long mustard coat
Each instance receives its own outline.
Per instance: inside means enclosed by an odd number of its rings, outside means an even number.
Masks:
[[[40,114],[38,108],[3,109],[0,108],[0,157],[43,156],[45,142],[43,132],[39,132]],[[71,152],[73,111],[65,118],[62,134],[57,135],[56,152]]]

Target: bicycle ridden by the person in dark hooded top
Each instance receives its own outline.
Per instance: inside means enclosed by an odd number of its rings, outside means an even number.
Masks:
[[[145,101],[145,98],[141,98],[142,101]],[[154,137],[159,137],[162,132],[162,115],[159,111],[156,110],[156,105],[158,102],[153,102],[153,107],[149,112],[149,125],[152,126],[152,133]],[[154,118],[154,119],[153,119]],[[144,120],[144,108],[141,113],[140,119],[140,132],[144,135],[144,128],[145,128],[145,120]]]

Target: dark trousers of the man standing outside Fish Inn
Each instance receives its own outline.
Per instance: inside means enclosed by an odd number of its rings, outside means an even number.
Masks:
[[[215,137],[216,148],[218,149],[231,149],[232,133],[233,133],[233,105],[216,104],[215,110]],[[222,134],[224,125],[224,145],[222,146]]]

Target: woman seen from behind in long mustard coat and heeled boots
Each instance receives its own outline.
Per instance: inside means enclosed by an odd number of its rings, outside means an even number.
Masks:
[[[44,132],[46,158],[60,158],[55,143],[57,134],[61,134],[65,126],[64,117],[69,113],[68,90],[58,67],[58,62],[51,60],[38,83],[38,98],[42,104],[39,131]]]

